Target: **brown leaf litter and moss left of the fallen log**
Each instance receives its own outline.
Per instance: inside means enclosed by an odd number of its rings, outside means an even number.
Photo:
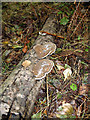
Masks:
[[[42,7],[45,4],[27,2],[2,4],[3,63],[1,82],[6,79],[6,76],[12,72],[27,51],[31,49],[40,29],[52,13],[51,10]]]

